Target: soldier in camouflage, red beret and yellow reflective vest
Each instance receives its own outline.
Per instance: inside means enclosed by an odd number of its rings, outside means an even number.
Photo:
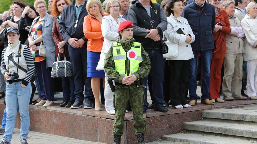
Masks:
[[[137,143],[141,144],[144,143],[146,129],[146,123],[143,119],[143,88],[145,85],[139,84],[139,80],[149,74],[150,59],[141,43],[135,42],[135,39],[132,38],[133,23],[131,21],[122,22],[119,32],[121,39],[112,44],[104,61],[104,70],[108,77],[115,81],[116,85],[113,98],[115,120],[112,134],[114,135],[114,143],[119,144],[120,136],[123,135],[127,104],[130,102]],[[137,53],[136,56],[133,52]]]

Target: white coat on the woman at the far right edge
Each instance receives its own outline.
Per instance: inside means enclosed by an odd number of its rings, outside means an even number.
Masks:
[[[257,59],[257,17],[252,18],[248,14],[241,21],[245,33],[243,58],[244,61]]]

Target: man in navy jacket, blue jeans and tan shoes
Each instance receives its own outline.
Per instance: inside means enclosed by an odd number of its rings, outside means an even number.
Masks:
[[[204,0],[195,0],[184,7],[181,16],[188,20],[195,34],[195,41],[191,44],[194,58],[190,60],[191,64],[188,71],[188,90],[191,99],[188,104],[195,106],[198,99],[196,94],[196,67],[197,56],[200,52],[203,73],[201,102],[206,105],[214,105],[214,103],[209,100],[210,67],[212,50],[214,49],[213,30],[216,24],[214,6]]]

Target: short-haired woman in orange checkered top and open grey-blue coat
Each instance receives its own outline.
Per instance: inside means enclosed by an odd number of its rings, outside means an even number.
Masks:
[[[51,70],[53,62],[55,62],[54,52],[55,44],[52,38],[52,27],[54,17],[46,11],[46,3],[44,0],[36,0],[34,2],[39,17],[32,22],[28,42],[35,62],[36,76],[41,90],[41,100],[36,106],[51,106],[54,102],[54,86],[53,78],[51,78]],[[44,47],[45,54],[39,54],[40,47]]]

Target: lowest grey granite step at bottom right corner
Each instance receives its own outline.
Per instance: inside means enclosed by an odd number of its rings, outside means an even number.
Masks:
[[[257,144],[257,140],[249,138],[237,138],[231,136],[179,133],[162,136],[165,142],[170,143],[194,143],[194,144]],[[165,143],[163,143],[165,144]]]

